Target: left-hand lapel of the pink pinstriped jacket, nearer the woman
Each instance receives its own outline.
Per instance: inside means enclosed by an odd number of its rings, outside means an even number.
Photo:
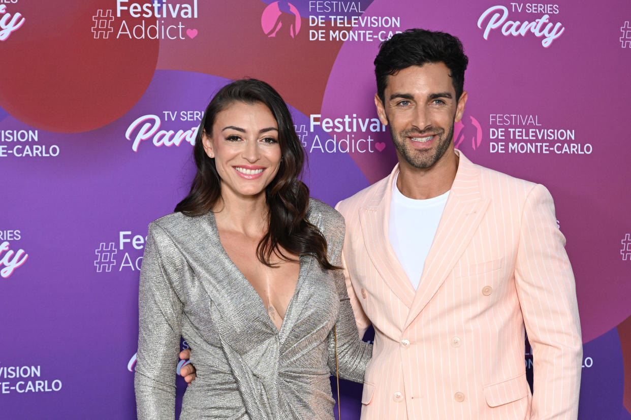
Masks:
[[[404,305],[410,308],[415,290],[394,254],[388,231],[392,180],[398,172],[399,165],[396,165],[382,188],[375,190],[369,205],[360,209],[360,224],[368,255],[379,276]]]

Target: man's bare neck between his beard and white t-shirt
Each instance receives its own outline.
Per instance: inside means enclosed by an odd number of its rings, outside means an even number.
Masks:
[[[459,156],[453,148],[429,168],[415,168],[399,156],[396,186],[401,194],[416,200],[438,197],[451,189],[458,170]]]

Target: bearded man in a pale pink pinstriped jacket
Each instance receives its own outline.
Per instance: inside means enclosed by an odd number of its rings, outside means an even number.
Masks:
[[[545,187],[454,149],[467,64],[457,38],[425,30],[394,35],[375,59],[399,163],[336,206],[358,329],[375,329],[362,419],[576,419],[581,327],[565,238]]]

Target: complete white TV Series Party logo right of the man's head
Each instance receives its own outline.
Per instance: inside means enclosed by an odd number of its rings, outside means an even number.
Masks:
[[[555,23],[550,18],[550,15],[559,13],[557,4],[510,3],[510,8],[509,12],[507,7],[498,5],[483,11],[478,19],[478,28],[484,31],[483,38],[488,40],[490,33],[499,29],[505,37],[543,37],[541,45],[548,48],[565,32],[562,23]],[[540,17],[533,20],[533,15]]]

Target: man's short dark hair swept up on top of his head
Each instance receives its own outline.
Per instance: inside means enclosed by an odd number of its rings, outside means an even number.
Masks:
[[[388,84],[388,76],[411,66],[438,62],[444,62],[449,69],[458,100],[463,94],[464,71],[469,63],[469,59],[464,55],[463,44],[458,38],[444,32],[408,29],[382,42],[374,62],[377,95],[381,102],[385,102],[384,91]]]

